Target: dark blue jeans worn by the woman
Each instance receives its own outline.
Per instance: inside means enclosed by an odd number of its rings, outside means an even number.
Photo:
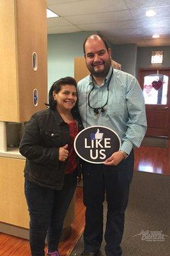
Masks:
[[[63,189],[43,188],[25,180],[29,210],[29,243],[32,256],[44,256],[47,235],[50,252],[58,250],[66,211],[77,185],[77,172],[66,174]]]

